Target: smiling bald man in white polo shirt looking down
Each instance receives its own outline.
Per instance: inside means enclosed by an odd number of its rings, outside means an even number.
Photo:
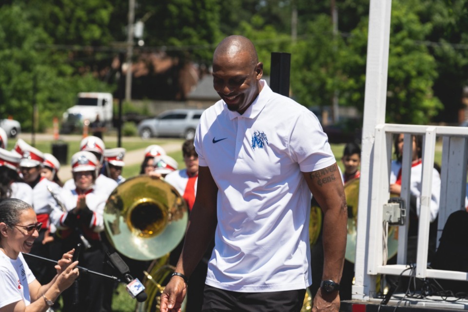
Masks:
[[[340,173],[315,115],[274,93],[262,75],[249,39],[230,36],[216,47],[221,100],[196,130],[195,204],[161,312],[180,311],[213,236],[202,311],[300,311],[312,283],[311,192],[324,212],[325,263],[312,311],[339,310],[348,218]]]

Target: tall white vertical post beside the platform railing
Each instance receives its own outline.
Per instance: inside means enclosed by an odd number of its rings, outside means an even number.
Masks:
[[[357,300],[369,296],[370,291],[375,289],[375,276],[371,277],[368,274],[367,259],[372,188],[370,161],[373,158],[375,126],[385,122],[390,12],[391,0],[370,0],[356,261],[354,265],[355,284],[352,287],[352,298]]]

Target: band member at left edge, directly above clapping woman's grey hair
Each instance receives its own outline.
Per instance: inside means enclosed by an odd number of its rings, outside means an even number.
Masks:
[[[0,148],[0,199],[18,198],[33,205],[33,189],[20,177],[21,155]]]

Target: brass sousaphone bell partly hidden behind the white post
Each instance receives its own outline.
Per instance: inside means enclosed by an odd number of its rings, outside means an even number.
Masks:
[[[359,202],[359,178],[345,183],[345,197],[348,205],[348,236],[346,243],[345,259],[354,263],[356,260],[356,227],[357,207]],[[393,257],[398,251],[398,227],[390,226],[387,239],[388,258]]]

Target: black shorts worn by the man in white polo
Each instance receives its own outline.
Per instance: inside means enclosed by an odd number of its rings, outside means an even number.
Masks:
[[[284,292],[231,292],[205,285],[203,312],[299,312],[305,289]]]

